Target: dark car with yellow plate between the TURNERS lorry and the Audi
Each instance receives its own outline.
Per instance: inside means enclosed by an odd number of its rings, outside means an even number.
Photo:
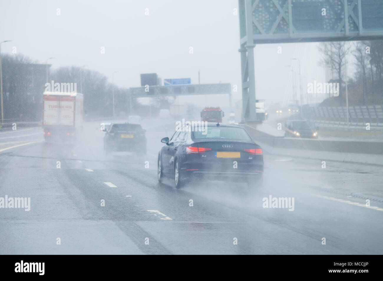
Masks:
[[[108,151],[136,151],[137,154],[146,154],[146,130],[139,124],[112,123],[108,129],[103,130],[104,150]]]

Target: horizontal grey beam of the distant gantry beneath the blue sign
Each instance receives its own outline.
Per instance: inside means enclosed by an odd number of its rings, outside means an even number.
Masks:
[[[231,84],[190,84],[129,88],[130,97],[165,97],[208,94],[231,95]]]

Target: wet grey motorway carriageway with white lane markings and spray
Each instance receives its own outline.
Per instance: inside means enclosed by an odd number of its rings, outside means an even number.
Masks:
[[[105,155],[103,133],[93,127],[87,125],[77,146],[34,143],[0,154],[0,197],[31,197],[30,211],[0,209],[0,253],[383,252],[383,212],[347,203],[365,200],[328,191],[345,190],[342,179],[347,190],[357,190],[360,182],[378,190],[382,174],[376,166],[363,165],[366,174],[360,174],[355,164],[328,162],[324,171],[315,160],[266,155],[265,188],[252,196],[246,185],[223,182],[176,190],[171,180],[157,182],[159,140],[175,125],[147,123],[148,154],[142,157]],[[294,211],[262,208],[262,198],[269,195],[294,197]],[[371,205],[382,208],[378,202]]]

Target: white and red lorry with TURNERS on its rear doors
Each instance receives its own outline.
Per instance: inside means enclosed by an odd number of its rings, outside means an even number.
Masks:
[[[75,141],[82,131],[83,95],[44,92],[43,129],[46,142]]]

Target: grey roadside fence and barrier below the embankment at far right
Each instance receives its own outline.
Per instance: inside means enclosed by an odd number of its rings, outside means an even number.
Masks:
[[[383,131],[383,106],[303,106],[305,119],[313,121],[319,128],[335,130],[370,130]]]

